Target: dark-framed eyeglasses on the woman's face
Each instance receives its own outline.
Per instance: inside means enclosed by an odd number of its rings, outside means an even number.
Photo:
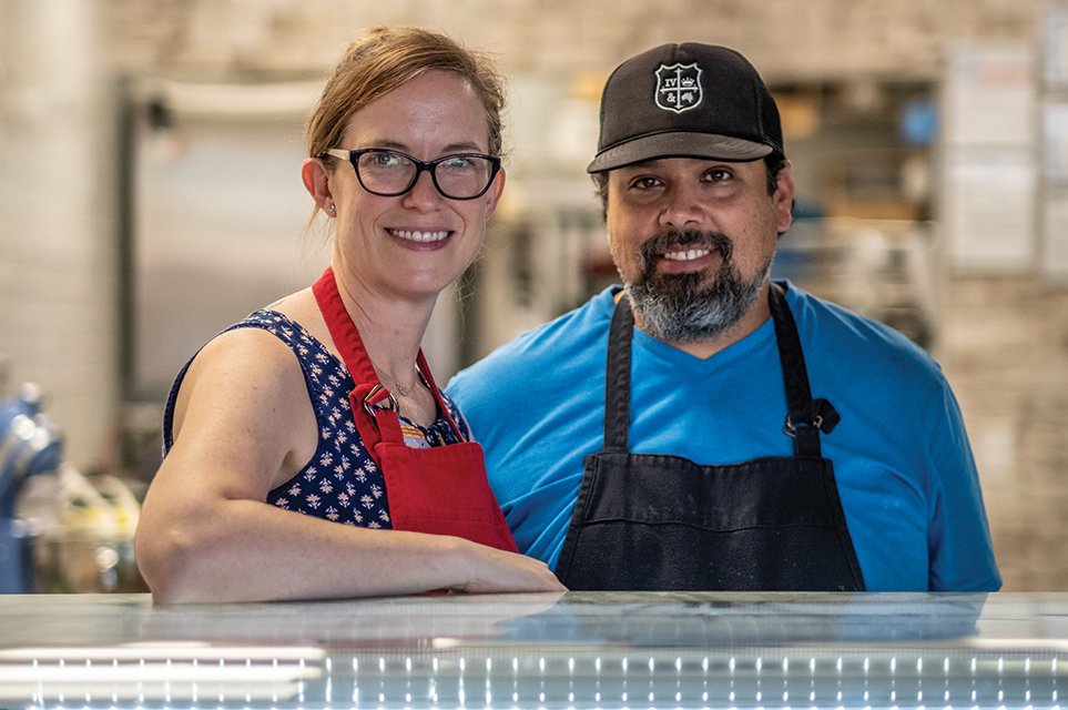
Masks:
[[[344,158],[356,170],[356,180],[373,195],[396,197],[411,190],[425,170],[439,193],[449,200],[475,200],[489,190],[500,171],[500,159],[482,153],[455,153],[421,161],[400,151],[333,148],[319,158]]]

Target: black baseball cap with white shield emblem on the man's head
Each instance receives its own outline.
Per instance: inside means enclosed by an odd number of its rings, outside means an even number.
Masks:
[[[785,158],[779,108],[732,49],[662,44],[616,68],[601,94],[597,173],[658,158]]]

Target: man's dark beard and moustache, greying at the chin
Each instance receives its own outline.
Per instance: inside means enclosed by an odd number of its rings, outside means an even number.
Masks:
[[[655,273],[660,255],[690,248],[719,252],[719,271],[714,275]],[[719,232],[669,232],[645,242],[641,275],[625,284],[645,331],[667,343],[693,343],[715,337],[735,325],[760,295],[771,261],[746,281],[739,273],[733,254],[734,242]]]

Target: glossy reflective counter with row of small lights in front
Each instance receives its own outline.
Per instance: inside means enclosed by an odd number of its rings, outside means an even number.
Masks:
[[[0,709],[1042,708],[1068,594],[0,596]]]

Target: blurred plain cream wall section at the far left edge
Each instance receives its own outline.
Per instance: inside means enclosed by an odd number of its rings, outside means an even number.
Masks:
[[[71,459],[98,463],[116,410],[114,151],[93,3],[0,3],[3,394],[50,394]]]

